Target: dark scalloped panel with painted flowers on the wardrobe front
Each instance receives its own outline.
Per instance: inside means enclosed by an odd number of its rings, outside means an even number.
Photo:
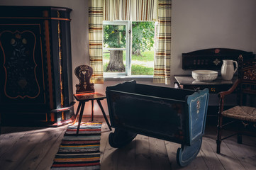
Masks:
[[[36,98],[40,86],[36,77],[35,33],[30,30],[0,33],[0,45],[4,52],[4,94],[8,98]]]

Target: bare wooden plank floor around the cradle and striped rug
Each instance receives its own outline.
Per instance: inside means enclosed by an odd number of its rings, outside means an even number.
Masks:
[[[66,128],[1,128],[0,169],[50,169]],[[177,165],[178,144],[137,135],[129,145],[116,149],[108,144],[106,123],[101,132],[101,170],[256,169],[256,138],[243,137],[244,143],[239,145],[231,137],[222,142],[221,154],[216,154],[213,125],[206,125],[201,151],[187,167]]]

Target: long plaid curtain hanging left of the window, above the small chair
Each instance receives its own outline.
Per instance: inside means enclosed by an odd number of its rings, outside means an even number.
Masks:
[[[103,57],[102,57],[102,28],[103,28],[103,1],[89,0],[89,57],[90,65],[94,69],[91,82],[103,84]]]

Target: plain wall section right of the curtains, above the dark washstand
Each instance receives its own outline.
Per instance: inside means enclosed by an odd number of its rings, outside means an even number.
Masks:
[[[223,47],[256,52],[255,0],[173,0],[172,75],[182,70],[182,53]]]

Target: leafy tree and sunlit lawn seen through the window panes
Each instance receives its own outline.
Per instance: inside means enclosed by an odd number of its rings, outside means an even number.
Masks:
[[[152,75],[154,62],[154,22],[132,23],[132,75]],[[116,25],[104,26],[104,47],[125,48],[126,27]],[[109,55],[108,55],[109,54]],[[122,50],[111,50],[104,54],[104,72],[124,72],[125,54]]]

